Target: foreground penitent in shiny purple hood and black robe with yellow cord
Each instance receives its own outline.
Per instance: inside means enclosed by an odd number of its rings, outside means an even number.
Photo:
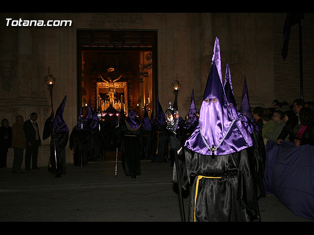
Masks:
[[[253,141],[226,98],[218,38],[212,58],[199,125],[184,148],[170,139],[171,149],[182,161],[174,167],[173,181],[179,182],[176,171],[180,169],[182,188],[191,189],[188,221],[260,221],[254,160],[248,155]]]

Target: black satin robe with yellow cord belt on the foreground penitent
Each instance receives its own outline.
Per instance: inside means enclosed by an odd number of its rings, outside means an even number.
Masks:
[[[182,187],[191,186],[188,221],[259,221],[246,149],[212,159],[184,148],[179,159]],[[176,170],[173,180],[177,183]]]

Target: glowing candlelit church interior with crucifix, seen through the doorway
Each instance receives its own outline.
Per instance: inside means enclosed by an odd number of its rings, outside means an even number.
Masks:
[[[83,109],[90,101],[97,112],[114,109],[143,116],[146,106],[151,114],[152,51],[83,50],[81,57]]]

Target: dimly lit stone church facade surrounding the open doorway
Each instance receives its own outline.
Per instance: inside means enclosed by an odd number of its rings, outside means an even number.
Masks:
[[[288,57],[283,60],[286,13],[0,13],[0,119],[10,126],[17,115],[38,113],[40,132],[51,112],[44,77],[50,68],[56,78],[53,107],[67,95],[64,119],[76,125],[79,103],[78,30],[156,32],[154,98],[164,111],[174,100],[171,82],[178,80],[178,110],[188,112],[192,89],[197,108],[209,75],[215,37],[219,38],[222,74],[229,62],[232,85],[240,104],[246,76],[251,106],[270,107],[272,100],[292,103],[300,97],[299,30],[291,30]],[[11,20],[7,20],[11,19]],[[21,20],[22,21],[21,21]],[[27,26],[27,21],[71,21],[65,26]],[[304,99],[314,100],[312,59],[314,15],[305,14],[303,38]],[[20,26],[19,26],[20,24]],[[25,26],[23,26],[23,24]],[[239,108],[239,107],[238,107]],[[42,142],[38,165],[46,166],[49,141]],[[9,149],[8,167],[13,161]],[[73,162],[67,146],[67,162]]]

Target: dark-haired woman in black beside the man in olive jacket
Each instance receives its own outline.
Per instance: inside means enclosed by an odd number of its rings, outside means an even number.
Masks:
[[[280,143],[280,141],[293,142],[295,138],[293,128],[298,125],[298,116],[296,116],[292,110],[288,110],[284,114],[284,121],[286,122],[286,125],[278,136],[277,143]]]

